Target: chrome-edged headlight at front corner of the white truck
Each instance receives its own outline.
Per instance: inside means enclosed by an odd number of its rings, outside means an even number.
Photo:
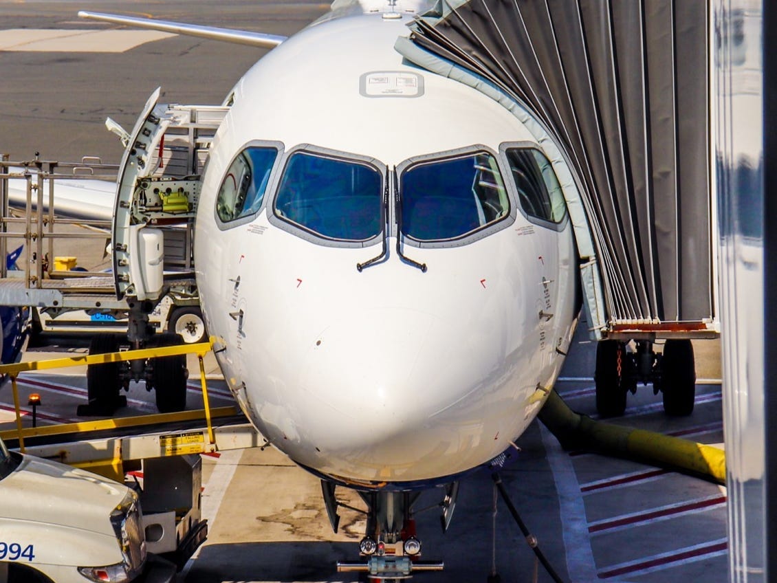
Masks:
[[[78,572],[90,581],[98,583],[132,581],[143,570],[146,559],[140,504],[138,495],[132,490],[127,490],[124,500],[110,513],[110,524],[116,533],[122,562],[105,567],[78,567]]]

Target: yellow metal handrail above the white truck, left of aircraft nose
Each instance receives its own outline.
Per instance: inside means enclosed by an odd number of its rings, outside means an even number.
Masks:
[[[182,344],[179,346],[167,346],[167,347],[155,347],[155,348],[142,348],[140,350],[131,350],[124,352],[108,352],[105,354],[89,354],[71,356],[68,358],[52,358],[44,361],[26,361],[17,362],[10,365],[0,365],[0,375],[9,375],[11,378],[11,386],[13,393],[13,404],[16,410],[16,431],[0,432],[0,437],[8,438],[11,433],[16,435],[19,440],[19,451],[24,453],[24,438],[25,437],[37,437],[41,435],[61,435],[64,433],[75,431],[99,431],[103,429],[116,429],[135,427],[142,424],[156,424],[161,421],[189,421],[192,419],[202,418],[204,415],[205,423],[207,424],[207,435],[209,443],[207,444],[207,450],[209,452],[216,451],[216,438],[214,436],[212,417],[214,417],[214,411],[211,411],[210,400],[207,396],[207,381],[205,376],[205,363],[204,356],[213,349],[214,338],[208,342],[200,342],[197,344]],[[197,354],[197,359],[200,363],[200,386],[202,388],[202,398],[204,409],[195,411],[183,411],[182,413],[175,414],[159,414],[159,415],[144,415],[142,417],[127,417],[124,419],[106,419],[103,421],[89,421],[85,424],[63,424],[54,428],[23,428],[21,408],[19,406],[19,390],[16,386],[16,377],[21,372],[30,371],[42,371],[51,370],[52,368],[69,368],[73,366],[82,365],[100,365],[109,362],[121,362],[139,360],[143,358],[159,358],[162,356],[176,356],[178,354]],[[225,410],[231,411],[225,411]],[[219,417],[225,414],[231,414],[235,411],[234,407],[219,407],[216,413]]]

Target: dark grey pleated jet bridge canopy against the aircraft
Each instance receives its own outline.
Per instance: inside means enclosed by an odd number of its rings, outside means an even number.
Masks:
[[[559,144],[605,327],[713,319],[708,20],[707,2],[450,0],[397,44],[520,104]]]

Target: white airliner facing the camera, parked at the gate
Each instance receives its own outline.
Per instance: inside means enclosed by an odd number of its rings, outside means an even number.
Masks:
[[[340,567],[376,579],[441,568],[417,560],[417,493],[443,489],[447,525],[458,478],[541,409],[580,311],[566,163],[394,50],[434,4],[336,0],[289,38],[79,12],[273,48],[226,96],[198,178],[197,287],[235,399],[322,480],[333,529],[336,487],[361,493],[361,562]],[[117,197],[153,171],[154,106],[127,132]]]

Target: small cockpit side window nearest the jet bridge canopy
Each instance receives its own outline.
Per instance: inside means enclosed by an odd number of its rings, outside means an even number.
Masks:
[[[524,212],[559,223],[566,213],[564,195],[549,160],[534,148],[507,149],[507,162]]]

